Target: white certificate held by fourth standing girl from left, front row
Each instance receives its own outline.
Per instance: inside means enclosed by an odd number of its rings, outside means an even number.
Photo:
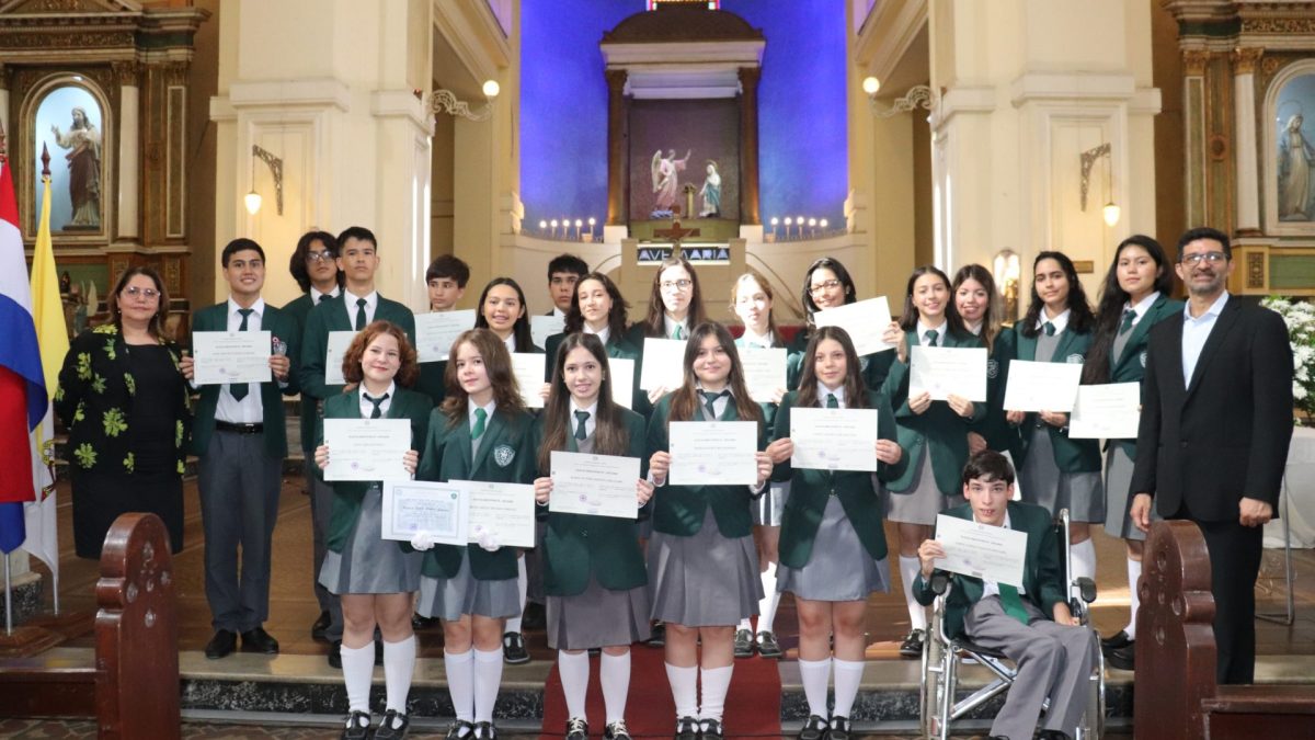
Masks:
[[[756,421],[672,421],[671,471],[675,486],[757,485]]]

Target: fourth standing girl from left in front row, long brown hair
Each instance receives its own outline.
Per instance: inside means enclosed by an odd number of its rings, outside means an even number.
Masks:
[[[739,353],[726,327],[713,321],[694,327],[685,346],[685,382],[658,402],[648,421],[648,466],[658,486],[648,540],[648,593],[654,618],[667,625],[676,737],[713,740],[723,737],[735,624],[753,616],[763,598],[750,499],[761,495],[772,460],[765,452],[755,453],[756,486],[667,485],[672,461],[668,424],[673,421],[753,421],[757,449],[764,449],[763,412],[744,387]],[[702,683],[701,706],[696,683]]]

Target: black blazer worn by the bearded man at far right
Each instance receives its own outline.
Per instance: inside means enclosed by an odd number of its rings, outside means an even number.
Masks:
[[[1241,498],[1278,508],[1293,436],[1293,352],[1273,311],[1230,296],[1191,382],[1182,379],[1182,317],[1151,329],[1131,491],[1169,517],[1237,519]]]

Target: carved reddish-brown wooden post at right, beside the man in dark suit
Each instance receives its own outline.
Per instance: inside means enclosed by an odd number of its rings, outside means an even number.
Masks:
[[[1151,527],[1137,581],[1136,737],[1203,737],[1201,699],[1215,694],[1210,553],[1191,521]]]

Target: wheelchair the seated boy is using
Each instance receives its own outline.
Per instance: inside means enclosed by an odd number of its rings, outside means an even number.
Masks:
[[[1060,558],[1064,564],[1064,582],[1069,589],[1069,608],[1082,625],[1090,629],[1090,604],[1095,600],[1095,582],[1090,578],[1073,578],[1069,566],[1069,512],[1061,510],[1056,517],[1056,539],[1060,549]],[[1016,668],[1005,653],[973,644],[968,636],[951,639],[944,629],[945,594],[949,591],[952,574],[936,571],[931,579],[931,589],[935,591],[936,602],[932,611],[931,625],[927,629],[927,639],[922,648],[922,691],[920,729],[923,737],[936,737],[947,740],[952,722],[964,718],[973,710],[981,707],[999,694],[1003,694],[1014,683]],[[955,700],[959,687],[959,666],[972,660],[985,666],[993,678],[989,683],[970,695]],[[1045,700],[1049,706],[1049,699]],[[1041,714],[1044,715],[1043,708]],[[1088,711],[1078,726],[1078,735],[1074,740],[1090,740],[1105,733],[1105,656],[1102,650],[1095,650],[1093,662],[1090,698]]]

